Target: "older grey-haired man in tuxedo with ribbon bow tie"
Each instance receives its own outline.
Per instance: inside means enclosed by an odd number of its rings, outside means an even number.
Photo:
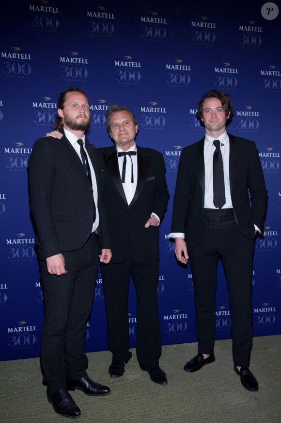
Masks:
[[[112,352],[111,377],[120,377],[129,351],[128,289],[137,294],[137,358],[152,381],[167,385],[159,367],[161,338],[157,307],[159,224],[169,200],[163,156],[136,145],[138,123],[124,106],[111,104],[107,130],[115,146],[100,149],[108,170],[104,199],[109,216],[112,260],[101,265]]]

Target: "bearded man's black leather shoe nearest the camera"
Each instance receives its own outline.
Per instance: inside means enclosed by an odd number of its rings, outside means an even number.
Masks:
[[[56,413],[70,419],[78,419],[81,417],[80,408],[76,405],[74,399],[66,389],[58,389],[51,393],[47,388],[47,399],[52,404]]]

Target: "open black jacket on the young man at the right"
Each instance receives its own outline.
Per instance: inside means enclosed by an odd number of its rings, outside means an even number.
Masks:
[[[262,231],[267,191],[255,143],[231,134],[229,173],[231,199],[239,230],[254,237],[254,224]],[[186,234],[187,244],[200,242],[204,208],[204,138],[182,151],[174,194],[172,230]],[[250,190],[250,198],[249,191]]]

